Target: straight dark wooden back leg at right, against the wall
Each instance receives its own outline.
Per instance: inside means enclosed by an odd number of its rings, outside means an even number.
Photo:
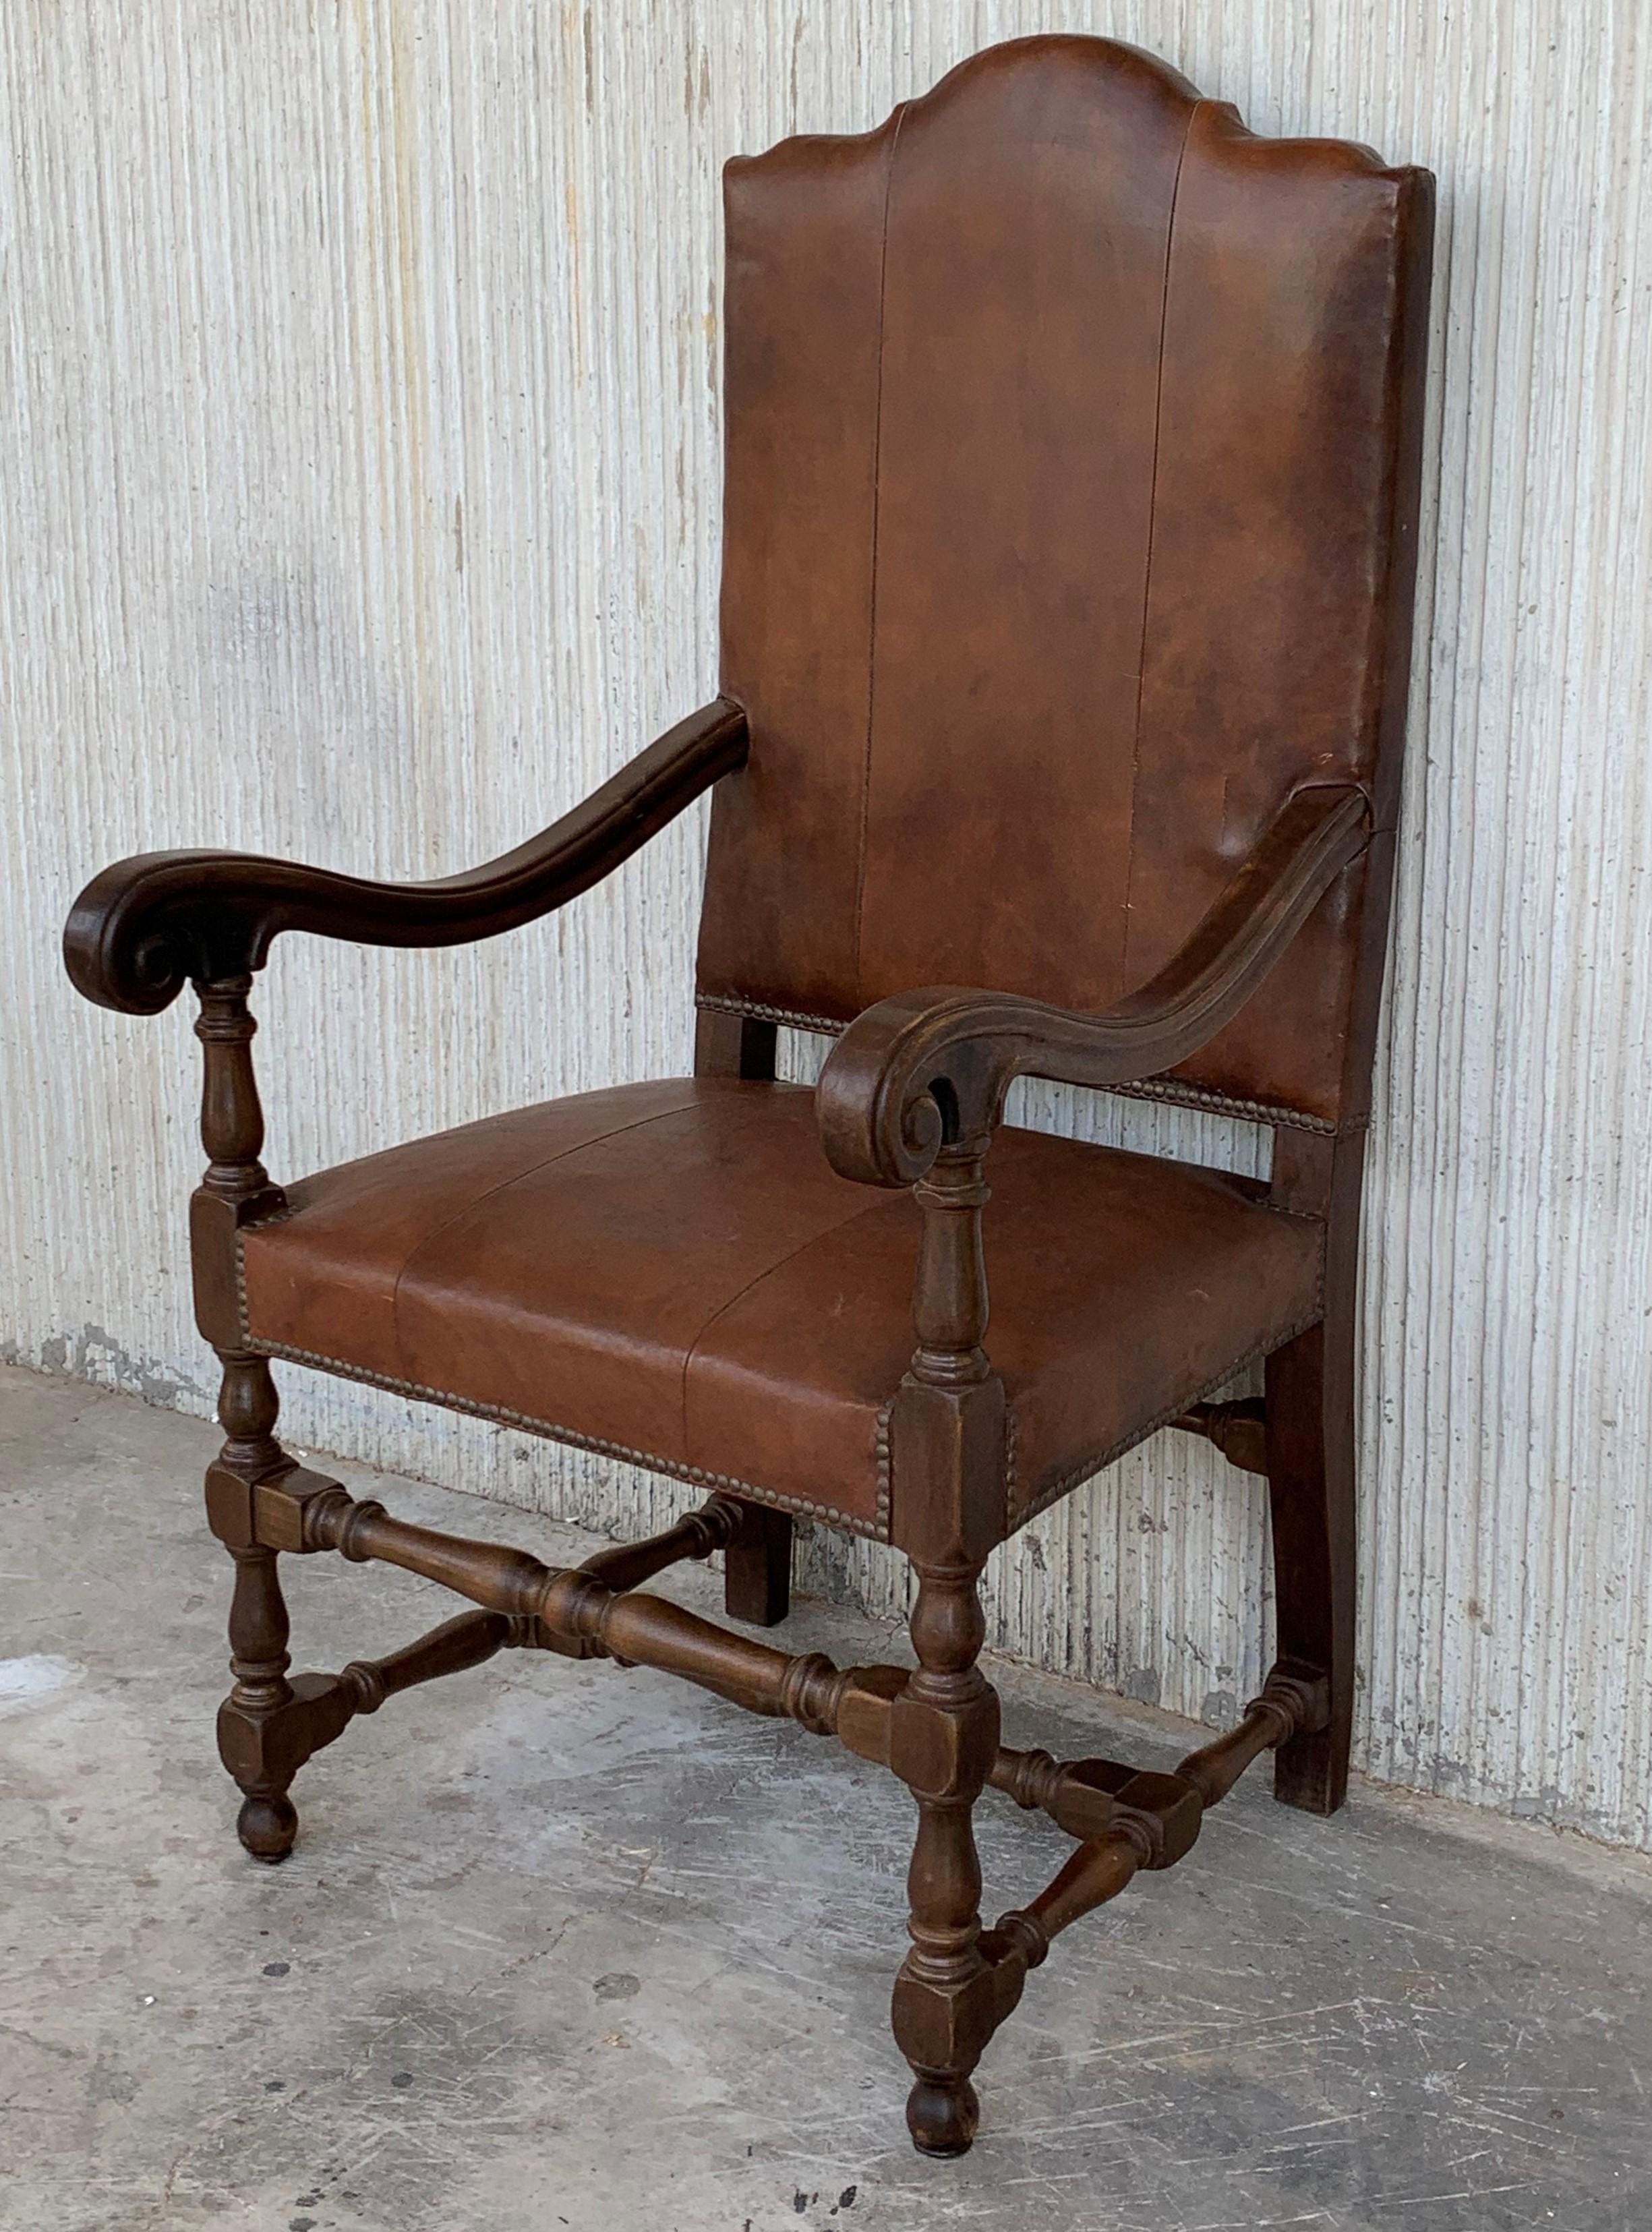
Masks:
[[[1353,1324],[1337,1312],[1268,1357],[1268,1493],[1279,1661],[1324,1676],[1331,1721],[1275,1754],[1272,1792],[1328,1815],[1348,1795],[1355,1623]]]

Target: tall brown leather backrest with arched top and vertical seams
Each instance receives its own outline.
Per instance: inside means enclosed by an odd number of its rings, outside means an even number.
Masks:
[[[1364,1114],[1429,176],[1029,38],[726,170],[723,690],[699,991],[1105,1007],[1304,783],[1380,837],[1179,1096]],[[1384,917],[1384,920],[1377,920]]]

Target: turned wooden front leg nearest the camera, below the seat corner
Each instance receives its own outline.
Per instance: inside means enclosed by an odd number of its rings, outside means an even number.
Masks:
[[[964,2154],[980,2103],[969,2074],[998,2020],[980,1951],[973,1808],[998,1757],[998,1696],[976,1667],[978,1567],[918,1567],[918,1672],[893,1705],[891,1766],[918,1799],[906,1873],[911,1953],[895,1978],[895,2042],[911,2062],[906,2127],[922,2154]]]

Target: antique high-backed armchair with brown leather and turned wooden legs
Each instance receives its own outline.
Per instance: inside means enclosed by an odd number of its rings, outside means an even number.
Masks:
[[[723,694],[469,875],[145,855],[94,877],[65,953],[105,1007],[199,998],[219,1748],[248,1853],[288,1855],[290,1783],[353,1716],[502,1647],[663,1667],[835,1736],[915,1799],[893,2024],[913,2140],[944,2156],[1058,1931],[1181,1859],[1264,1752],[1286,1803],[1346,1788],[1431,181],[1252,138],[1130,47],[1031,38],[726,183]],[[277,933],[496,935],[712,786],[692,1078],[270,1178],[248,1000]],[[815,1094],[775,1080],[781,1024],[837,1036]],[[1266,1123],[1272,1174],[1005,1125],[1020,1074]],[[578,1569],[411,1527],[281,1449],[272,1359],[705,1500]],[[1210,1399],[1252,1362],[1261,1402]],[[1268,1478],[1261,1696],[1174,1774],[1014,1750],[980,1571],[1161,1426]],[[788,1654],[643,1589],[721,1551],[728,1614],[775,1625],[793,1516],[909,1556],[915,1667]],[[319,1551],[473,1609],[290,1676],[279,1558]],[[991,1928],[987,1788],[1074,1839]]]

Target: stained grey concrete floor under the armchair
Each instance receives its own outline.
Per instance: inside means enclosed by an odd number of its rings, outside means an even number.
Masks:
[[[259,1868],[210,1734],[212,1442],[0,1373],[7,2232],[1652,2225],[1652,1868],[1464,1808],[1360,1786],[1326,1824],[1241,1786],[1181,1868],[1060,1940],[951,2165],[906,2143],[886,2020],[909,1799],[797,1728],[498,1658],[313,1761],[297,1853]],[[386,1498],[558,1562],[587,1547]],[[288,1571],[301,1665],[451,1609],[377,1567]],[[714,1609],[701,1569],[670,1587]],[[781,1634],[891,1647],[817,1605]],[[1188,1743],[998,1676],[1011,1741]],[[982,1824],[996,1913],[1065,1844],[1007,1801]]]

